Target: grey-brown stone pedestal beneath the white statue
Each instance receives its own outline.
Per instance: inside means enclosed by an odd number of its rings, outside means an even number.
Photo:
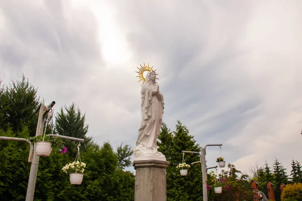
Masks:
[[[169,161],[134,160],[135,201],[166,201],[166,169]]]

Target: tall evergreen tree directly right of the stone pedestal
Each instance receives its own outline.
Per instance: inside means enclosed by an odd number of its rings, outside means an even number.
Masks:
[[[176,166],[182,163],[181,151],[200,151],[193,136],[180,121],[177,121],[176,129],[171,132],[166,124],[162,125],[159,136],[159,151],[162,152],[167,161],[167,200],[202,200],[202,173],[200,164],[191,166],[187,176],[181,176]],[[199,161],[196,154],[185,154],[185,162],[190,164]]]

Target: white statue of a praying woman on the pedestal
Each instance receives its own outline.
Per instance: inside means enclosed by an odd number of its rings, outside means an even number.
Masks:
[[[157,150],[157,138],[163,124],[164,96],[156,83],[155,71],[149,71],[141,85],[141,123],[138,130],[134,160],[166,160]]]

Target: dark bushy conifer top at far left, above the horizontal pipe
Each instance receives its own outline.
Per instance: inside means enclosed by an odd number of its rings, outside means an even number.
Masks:
[[[6,88],[0,88],[0,127],[11,128],[18,134],[23,127],[27,127],[30,136],[35,136],[38,122],[39,97],[35,89],[25,76]]]

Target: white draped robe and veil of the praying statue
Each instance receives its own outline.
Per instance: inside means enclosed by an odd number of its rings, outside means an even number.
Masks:
[[[141,124],[138,130],[136,146],[143,145],[148,149],[157,150],[157,138],[163,124],[164,97],[156,91],[157,85],[149,83],[149,72],[141,86]]]

